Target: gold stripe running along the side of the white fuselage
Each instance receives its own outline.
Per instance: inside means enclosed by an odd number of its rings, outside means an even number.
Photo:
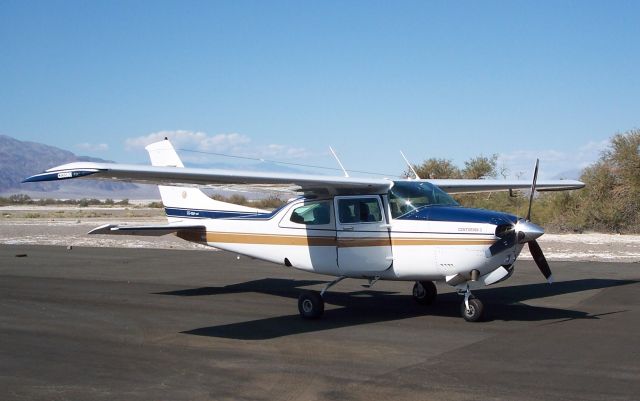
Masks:
[[[334,236],[303,236],[278,234],[250,234],[207,232],[207,242],[220,244],[293,245],[293,246],[337,246],[360,248],[372,246],[428,246],[428,245],[492,245],[495,240],[477,238],[404,238],[389,241],[380,237],[336,238]]]

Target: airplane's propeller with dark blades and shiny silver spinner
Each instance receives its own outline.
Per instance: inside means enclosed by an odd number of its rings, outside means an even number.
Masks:
[[[539,160],[536,159],[536,166],[533,171],[533,181],[531,183],[531,194],[529,195],[529,208],[527,211],[527,217],[520,219],[516,224],[501,224],[496,228],[496,236],[499,238],[493,245],[489,247],[489,253],[491,256],[495,256],[507,249],[512,248],[516,243],[529,245],[529,252],[533,257],[534,262],[540,269],[542,275],[547,279],[549,283],[553,282],[553,275],[551,274],[551,268],[547,259],[542,253],[542,249],[536,241],[536,238],[544,234],[542,227],[531,222],[531,205],[533,204],[533,195],[536,190],[536,182],[538,180],[538,165]]]

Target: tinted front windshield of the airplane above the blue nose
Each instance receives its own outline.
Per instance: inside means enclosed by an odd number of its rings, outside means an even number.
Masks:
[[[394,181],[389,204],[393,218],[423,206],[459,206],[448,193],[424,181]]]

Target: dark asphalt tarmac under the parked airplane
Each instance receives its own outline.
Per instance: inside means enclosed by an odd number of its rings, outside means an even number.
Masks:
[[[223,252],[0,246],[2,400],[639,400],[640,265],[520,262],[436,304]]]

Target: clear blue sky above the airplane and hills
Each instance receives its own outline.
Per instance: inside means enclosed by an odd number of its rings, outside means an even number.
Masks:
[[[164,135],[334,167],[331,145],[387,174],[399,150],[496,153],[550,178],[640,126],[638,17],[624,1],[3,0],[0,134],[134,163]]]

